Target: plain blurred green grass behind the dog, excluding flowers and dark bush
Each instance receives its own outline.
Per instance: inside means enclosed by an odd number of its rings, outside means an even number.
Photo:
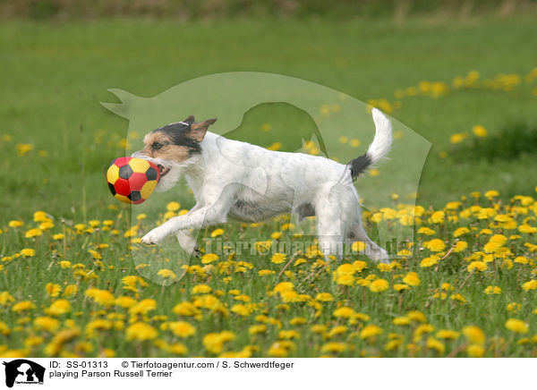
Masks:
[[[49,212],[72,217],[72,208],[80,210],[84,189],[89,191],[87,207],[94,212],[111,202],[101,185],[102,172],[122,151],[95,145],[94,134],[101,131],[105,145],[117,143],[127,123],[99,105],[114,101],[109,88],[151,97],[205,74],[259,71],[315,81],[364,101],[393,101],[396,89],[420,81],[450,83],[472,69],[482,78],[500,72],[524,75],[536,64],[536,55],[526,49],[537,39],[532,32],[529,17],[434,27],[420,21],[403,26],[318,21],[3,23],[1,132],[11,134],[13,142],[0,145],[7,188],[0,199],[2,220],[29,216],[43,204]],[[525,88],[406,98],[393,116],[433,142],[422,175],[422,203],[438,206],[460,193],[490,188],[506,196],[532,193],[531,183],[523,180],[537,169],[529,157],[507,161],[498,171],[485,164],[450,163],[438,152],[447,149],[450,134],[469,131],[477,123],[494,133],[513,120],[537,122],[535,100]],[[277,109],[270,114],[277,116]],[[17,142],[31,143],[35,150],[16,157]],[[48,157],[36,157],[38,149],[47,150]]]

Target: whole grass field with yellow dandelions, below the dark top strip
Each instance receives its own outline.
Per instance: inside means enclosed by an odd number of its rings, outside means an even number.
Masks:
[[[534,356],[537,165],[513,137],[527,124],[524,142],[533,140],[537,123],[533,24],[533,15],[396,26],[4,22],[0,354]],[[124,154],[128,123],[99,102],[114,101],[109,88],[151,97],[229,71],[283,73],[374,99],[432,142],[422,207],[405,207],[401,197],[364,216],[370,230],[372,220],[413,221],[414,240],[396,249],[400,259],[377,267],[362,255],[326,264],[314,249],[219,255],[186,269],[158,265],[161,283],[186,271],[173,287],[141,278],[131,246],[155,220],[137,219],[136,208],[131,216],[107,190],[104,171]],[[262,123],[272,130],[260,131]],[[266,105],[234,134],[285,149],[288,123],[311,131],[303,113]],[[512,157],[491,161],[487,150],[502,140]],[[192,199],[178,200],[161,218],[192,207]],[[300,241],[299,227],[286,222],[202,233]]]

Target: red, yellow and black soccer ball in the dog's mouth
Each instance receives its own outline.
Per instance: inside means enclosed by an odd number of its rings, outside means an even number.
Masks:
[[[159,178],[158,166],[142,158],[116,158],[107,171],[108,188],[115,199],[134,205],[149,198]]]

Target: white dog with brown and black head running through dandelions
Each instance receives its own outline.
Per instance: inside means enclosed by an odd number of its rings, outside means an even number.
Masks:
[[[271,151],[207,131],[216,119],[196,123],[189,116],[149,132],[144,148],[132,157],[158,165],[157,191],[175,186],[181,176],[194,193],[196,205],[141,239],[146,244],[176,234],[189,253],[196,242],[189,229],[225,223],[227,217],[257,222],[285,212],[300,218],[317,217],[319,247],[326,256],[341,256],[343,243],[362,241],[366,254],[388,261],[388,253],[364,232],[358,194],[353,181],[386,157],[392,142],[391,123],[372,110],[375,137],[366,154],[347,165],[325,157]]]

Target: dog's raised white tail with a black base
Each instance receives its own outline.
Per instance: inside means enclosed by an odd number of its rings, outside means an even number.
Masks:
[[[372,114],[375,123],[375,138],[364,155],[349,162],[348,166],[353,180],[371,165],[385,158],[391,148],[392,127],[388,117],[377,108],[373,108]]]

